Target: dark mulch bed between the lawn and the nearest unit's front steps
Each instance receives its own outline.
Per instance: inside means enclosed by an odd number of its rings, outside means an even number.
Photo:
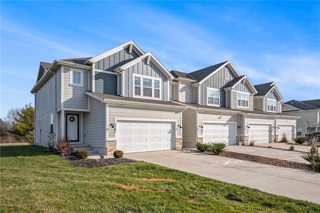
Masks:
[[[137,162],[137,160],[128,159],[128,158],[78,159],[74,156],[66,156],[65,158],[70,160],[70,165],[73,167],[86,167],[86,168],[96,168],[101,166]]]

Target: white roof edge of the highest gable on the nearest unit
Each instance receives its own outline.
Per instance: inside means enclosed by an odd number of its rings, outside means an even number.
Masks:
[[[140,47],[138,47],[138,45],[136,45],[133,42],[133,40],[129,40],[129,41],[127,41],[125,43],[122,43],[121,45],[118,45],[118,46],[116,46],[116,47],[114,47],[112,49],[109,49],[109,50],[107,50],[107,51],[105,51],[105,52],[103,52],[101,54],[98,54],[98,55],[96,55],[94,57],[88,58],[86,61],[84,61],[84,64],[92,64],[92,63],[94,63],[94,62],[96,62],[96,61],[98,61],[98,60],[100,60],[102,58],[105,58],[105,57],[107,57],[107,56],[109,56],[109,55],[111,55],[113,53],[116,53],[116,52],[118,52],[118,51],[120,51],[122,49],[125,49],[127,47],[129,47],[129,49],[133,49],[139,56],[144,54],[144,52],[140,49]]]

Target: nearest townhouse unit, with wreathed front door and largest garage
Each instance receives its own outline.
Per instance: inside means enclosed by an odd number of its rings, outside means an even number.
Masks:
[[[98,153],[182,147],[182,111],[169,101],[174,77],[128,41],[94,57],[40,62],[35,98],[35,143],[48,132]]]

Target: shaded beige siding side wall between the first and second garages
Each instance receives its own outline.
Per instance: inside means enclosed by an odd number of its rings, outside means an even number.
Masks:
[[[182,147],[193,147],[196,139],[196,130],[198,128],[196,124],[196,111],[193,109],[187,109],[182,112]]]

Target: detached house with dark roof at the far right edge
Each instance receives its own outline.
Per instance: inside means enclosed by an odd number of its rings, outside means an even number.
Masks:
[[[289,100],[282,103],[282,114],[299,116],[296,121],[296,135],[320,131],[320,99]]]

